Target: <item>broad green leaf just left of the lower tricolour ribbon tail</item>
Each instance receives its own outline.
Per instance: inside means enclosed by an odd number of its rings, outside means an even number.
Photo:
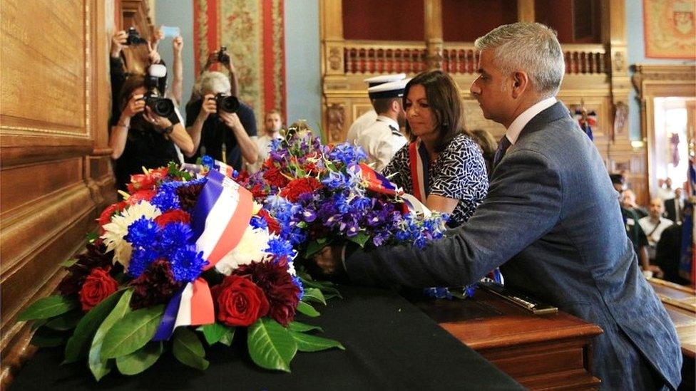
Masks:
[[[101,346],[101,357],[117,358],[145,346],[155,335],[163,313],[163,304],[128,313],[106,333]]]

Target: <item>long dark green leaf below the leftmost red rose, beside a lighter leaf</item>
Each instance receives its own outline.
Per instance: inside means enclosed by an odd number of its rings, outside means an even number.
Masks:
[[[80,320],[73,332],[73,336],[68,340],[66,358],[63,363],[73,363],[78,358],[87,355],[94,333],[104,318],[111,312],[113,306],[116,306],[118,298],[121,298],[121,294],[123,294],[123,291],[112,293],[111,296],[98,303],[82,317],[82,320]]]

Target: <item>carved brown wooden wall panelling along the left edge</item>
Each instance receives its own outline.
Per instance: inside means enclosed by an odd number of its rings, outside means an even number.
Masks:
[[[0,7],[0,380],[30,330],[16,314],[56,287],[59,262],[116,201],[108,148],[106,3],[4,0]]]

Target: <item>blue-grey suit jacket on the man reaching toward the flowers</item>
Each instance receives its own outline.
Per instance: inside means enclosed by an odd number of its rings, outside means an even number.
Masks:
[[[528,122],[486,199],[451,236],[421,251],[384,247],[346,259],[355,283],[412,287],[466,285],[501,265],[506,286],[604,330],[593,340],[603,388],[651,387],[653,374],[677,387],[674,325],[640,272],[602,158],[561,102]]]

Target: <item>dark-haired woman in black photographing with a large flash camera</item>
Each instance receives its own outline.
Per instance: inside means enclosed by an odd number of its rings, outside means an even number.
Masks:
[[[155,115],[145,106],[145,77],[131,75],[123,83],[118,100],[120,113],[111,120],[109,147],[116,160],[116,184],[126,189],[132,174],[141,174],[143,167],[157,168],[178,162],[175,146],[186,156],[195,152],[193,141],[174,114],[170,118]]]

